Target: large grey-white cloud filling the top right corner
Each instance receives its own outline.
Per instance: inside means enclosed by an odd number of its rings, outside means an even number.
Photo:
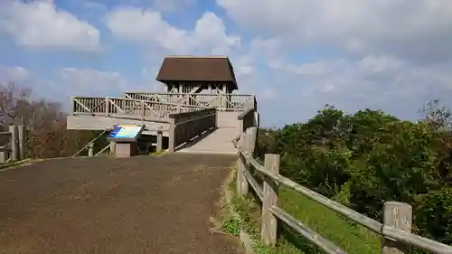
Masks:
[[[303,49],[323,45],[412,61],[452,56],[449,0],[217,0],[242,27]]]

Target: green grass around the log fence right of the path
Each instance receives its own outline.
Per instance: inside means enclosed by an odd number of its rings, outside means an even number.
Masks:
[[[324,253],[283,222],[278,224],[278,244],[266,247],[260,242],[260,209],[251,195],[240,197],[236,192],[236,181],[230,183],[231,203],[223,214],[222,230],[239,235],[240,230],[250,234],[256,254],[313,254]],[[380,237],[363,226],[345,220],[341,215],[309,200],[288,188],[279,190],[279,206],[302,221],[312,230],[331,240],[350,254],[381,253]],[[235,215],[234,215],[235,214]],[[238,215],[238,216],[237,216]]]

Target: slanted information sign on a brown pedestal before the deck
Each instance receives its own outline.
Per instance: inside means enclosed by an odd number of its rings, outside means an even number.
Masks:
[[[145,125],[117,125],[108,136],[115,143],[115,156],[129,157],[137,155],[137,141]]]

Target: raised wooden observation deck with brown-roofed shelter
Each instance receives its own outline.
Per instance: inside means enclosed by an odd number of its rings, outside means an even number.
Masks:
[[[215,109],[215,121],[209,128],[226,128],[231,132],[231,138],[234,137],[232,133],[239,133],[242,128],[239,118],[243,116],[240,115],[252,112],[252,125],[259,125],[255,96],[232,93],[239,87],[231,61],[225,56],[166,57],[156,80],[165,84],[165,93],[129,91],[122,98],[72,97],[68,129],[104,130],[117,124],[144,124],[143,135],[156,135],[157,130],[161,130],[163,136],[173,134],[177,139],[175,136],[180,135],[174,134],[177,123],[172,126],[172,119],[193,121],[193,116],[199,116],[200,111],[212,108]],[[193,129],[193,123],[190,128]],[[224,132],[222,130],[223,137]],[[182,139],[191,136],[185,135]],[[211,139],[214,143],[214,138]]]

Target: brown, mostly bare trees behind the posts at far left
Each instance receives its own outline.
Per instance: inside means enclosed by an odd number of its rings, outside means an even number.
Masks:
[[[0,85],[0,127],[24,124],[27,157],[70,156],[96,135],[93,131],[66,129],[61,104],[34,99],[33,90],[15,84]]]

